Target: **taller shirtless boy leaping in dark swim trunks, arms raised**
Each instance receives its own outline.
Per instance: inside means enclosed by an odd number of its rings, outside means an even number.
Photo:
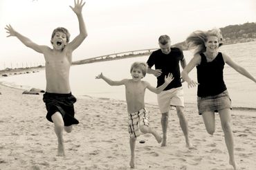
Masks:
[[[33,41],[19,34],[12,26],[6,26],[7,37],[17,37],[25,46],[32,48],[38,53],[44,54],[46,60],[46,93],[44,102],[48,111],[46,118],[54,123],[55,133],[58,140],[57,155],[64,156],[64,140],[62,137],[63,130],[70,133],[72,124],[78,124],[75,119],[74,106],[75,97],[71,94],[69,84],[69,69],[72,64],[72,52],[82,44],[87,36],[84,19],[82,17],[82,7],[84,3],[79,0],[75,1],[75,6],[71,7],[80,27],[80,34],[69,42],[70,34],[66,28],[56,28],[53,30],[51,44],[53,48],[35,44]]]

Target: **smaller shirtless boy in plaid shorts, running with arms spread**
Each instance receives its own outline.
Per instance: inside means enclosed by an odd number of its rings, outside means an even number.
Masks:
[[[158,143],[161,143],[162,138],[154,129],[149,126],[149,113],[145,109],[145,89],[154,93],[161,93],[163,89],[172,82],[174,79],[172,74],[165,76],[165,83],[158,88],[151,86],[148,82],[142,81],[147,73],[147,64],[143,62],[135,62],[131,65],[131,77],[132,79],[122,79],[121,81],[112,81],[111,79],[102,75],[98,75],[96,79],[103,79],[107,84],[111,86],[125,85],[126,102],[128,111],[128,128],[130,134],[130,149],[131,149],[131,161],[130,166],[134,168],[135,164],[135,142],[136,138],[142,133],[152,133]]]

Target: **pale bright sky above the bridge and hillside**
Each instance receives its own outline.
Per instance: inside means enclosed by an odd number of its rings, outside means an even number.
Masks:
[[[6,37],[10,24],[36,44],[51,46],[59,26],[79,34],[73,0],[0,0],[0,70],[44,64],[44,56],[16,37]],[[88,37],[73,52],[73,61],[129,50],[158,48],[158,37],[172,44],[194,30],[256,22],[255,0],[86,0],[82,11]]]

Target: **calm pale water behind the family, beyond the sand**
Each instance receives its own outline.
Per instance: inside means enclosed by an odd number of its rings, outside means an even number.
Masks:
[[[221,46],[220,51],[229,55],[235,63],[246,68],[253,77],[256,77],[256,41]],[[190,59],[192,59],[192,51],[186,50],[183,53],[188,63]],[[109,86],[102,79],[95,79],[95,76],[103,73],[106,77],[113,80],[131,78],[129,73],[131,64],[136,61],[146,62],[148,57],[147,55],[72,66],[70,72],[72,93],[76,97],[89,95],[92,97],[125,100],[125,86]],[[75,56],[73,56],[73,61],[75,61]],[[192,79],[196,80],[196,68],[194,68],[189,75]],[[149,82],[152,86],[156,86],[156,77],[154,77],[154,75],[147,74],[143,80]],[[232,106],[256,108],[255,82],[240,75],[227,64],[225,64],[224,68],[224,81],[230,93]],[[45,89],[46,86],[44,70],[37,73],[1,77],[0,82],[7,86],[22,89],[29,89],[31,87]],[[183,83],[183,89],[185,93],[185,103],[196,104],[197,89],[188,88],[186,82]],[[146,91],[145,102],[157,104],[156,94]]]

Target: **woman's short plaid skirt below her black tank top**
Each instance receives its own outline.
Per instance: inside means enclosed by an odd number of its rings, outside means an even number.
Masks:
[[[228,91],[223,91],[219,95],[197,97],[197,107],[199,110],[199,115],[205,111],[219,112],[224,108],[232,109],[231,99],[228,95]]]

